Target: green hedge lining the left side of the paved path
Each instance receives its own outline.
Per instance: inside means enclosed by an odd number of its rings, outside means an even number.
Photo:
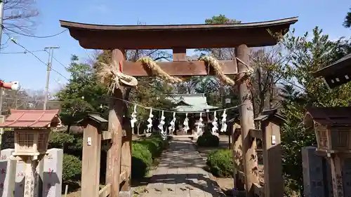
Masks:
[[[163,141],[159,135],[145,137],[132,143],[132,178],[142,178],[149,172],[153,159],[159,156],[168,141]]]

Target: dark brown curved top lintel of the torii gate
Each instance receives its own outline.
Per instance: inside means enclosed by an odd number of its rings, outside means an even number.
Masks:
[[[83,48],[108,50],[273,46],[277,39],[270,32],[285,34],[297,21],[295,17],[225,25],[92,25],[63,20],[60,24]]]

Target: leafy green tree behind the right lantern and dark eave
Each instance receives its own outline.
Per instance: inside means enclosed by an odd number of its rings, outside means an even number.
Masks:
[[[318,27],[312,31],[312,39],[288,35],[282,41],[287,50],[289,63],[282,76],[282,114],[286,124],[282,128],[283,168],[286,185],[303,195],[301,148],[315,145],[315,135],[303,123],[305,107],[347,106],[351,101],[351,84],[329,90],[322,79],[311,76],[338,58],[350,53],[348,41],[330,41]]]

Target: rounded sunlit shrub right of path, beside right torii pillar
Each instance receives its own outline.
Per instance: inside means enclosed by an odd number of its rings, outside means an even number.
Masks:
[[[229,149],[218,149],[208,154],[206,164],[209,170],[216,177],[232,177],[233,176],[233,156]]]

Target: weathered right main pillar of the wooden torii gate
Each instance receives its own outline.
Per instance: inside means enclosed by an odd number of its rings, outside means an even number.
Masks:
[[[249,64],[249,53],[250,49],[242,44],[235,48],[235,54],[237,57]],[[241,62],[238,62],[238,72],[246,72],[247,68]],[[249,79],[247,79],[249,80]],[[245,172],[245,193],[246,197],[253,197],[253,184],[258,183],[258,163],[252,159],[256,157],[256,140],[252,140],[249,135],[249,130],[255,128],[253,123],[253,105],[251,102],[251,91],[247,86],[247,81],[242,81],[239,84],[239,98],[240,104],[239,114],[240,126],[241,126],[241,141],[242,141],[242,155]]]

